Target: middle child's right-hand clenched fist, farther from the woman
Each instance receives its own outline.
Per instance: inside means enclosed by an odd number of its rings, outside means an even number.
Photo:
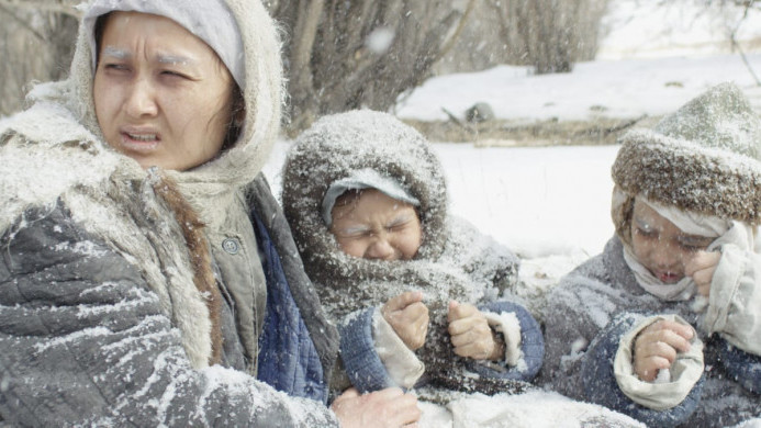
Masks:
[[[474,360],[502,360],[504,349],[494,340],[486,317],[470,304],[449,302],[449,336],[455,353]]]

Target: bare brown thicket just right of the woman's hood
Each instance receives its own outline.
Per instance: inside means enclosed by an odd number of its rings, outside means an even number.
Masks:
[[[429,77],[466,12],[445,0],[280,0],[269,8],[287,31],[292,133],[317,116],[388,110]]]

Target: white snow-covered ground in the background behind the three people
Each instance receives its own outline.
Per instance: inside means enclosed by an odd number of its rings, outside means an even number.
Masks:
[[[395,113],[446,120],[443,108],[462,114],[483,101],[496,116],[512,120],[660,116],[723,81],[737,83],[761,110],[761,87],[727,48],[727,26],[737,22],[738,10],[694,4],[613,0],[601,59],[564,75],[531,76],[526,67],[499,66],[433,78],[402,100]],[[738,38],[761,41],[761,13],[749,15]],[[747,56],[761,74],[761,50],[747,50]],[[551,283],[601,252],[613,235],[609,171],[617,146],[434,147],[446,170],[451,212],[523,256],[529,282]],[[276,188],[287,149],[288,143],[280,143],[265,170]]]

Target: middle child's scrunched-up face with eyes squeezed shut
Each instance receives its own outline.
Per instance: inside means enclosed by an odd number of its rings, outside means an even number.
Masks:
[[[361,191],[348,203],[336,203],[332,216],[331,232],[340,249],[349,256],[410,260],[423,241],[415,207],[376,189]]]

